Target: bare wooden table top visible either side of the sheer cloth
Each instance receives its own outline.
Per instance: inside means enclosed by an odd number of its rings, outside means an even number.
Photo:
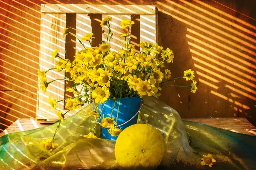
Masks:
[[[251,136],[256,136],[256,127],[254,127],[247,119],[242,117],[228,117],[228,118],[189,118],[183,119],[192,122],[203,123],[213,127],[218,127],[225,130],[230,130],[236,133],[243,133]],[[32,130],[38,127],[46,127],[51,124],[42,124],[36,122],[35,119],[18,119],[6,130],[0,133],[3,136],[8,133],[20,132],[25,130]]]

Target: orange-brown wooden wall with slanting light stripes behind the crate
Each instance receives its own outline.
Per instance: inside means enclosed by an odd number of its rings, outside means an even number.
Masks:
[[[35,117],[41,3],[156,5],[159,44],[175,53],[172,77],[189,68],[198,91],[160,99],[181,117],[245,116],[256,125],[256,3],[251,0],[0,0],[0,130]],[[186,85],[184,79],[169,83]]]

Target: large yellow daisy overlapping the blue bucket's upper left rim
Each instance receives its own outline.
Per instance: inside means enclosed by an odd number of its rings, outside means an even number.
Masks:
[[[109,89],[107,87],[98,87],[93,93],[92,97],[95,99],[96,103],[102,102],[104,103],[108,97],[110,96]]]

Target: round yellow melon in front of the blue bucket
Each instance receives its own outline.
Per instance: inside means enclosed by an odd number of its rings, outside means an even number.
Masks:
[[[155,169],[163,154],[163,136],[146,124],[131,125],[116,139],[116,160],[124,169]]]

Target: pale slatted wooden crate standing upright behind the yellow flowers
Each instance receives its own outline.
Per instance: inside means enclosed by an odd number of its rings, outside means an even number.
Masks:
[[[65,26],[80,39],[87,32],[93,32],[96,39],[92,40],[92,45],[98,46],[105,39],[108,32],[108,28],[102,28],[99,24],[102,18],[110,15],[113,17],[111,30],[114,36],[111,40],[112,44],[110,44],[113,51],[120,50],[122,46],[122,40],[118,37],[119,34],[123,33],[119,26],[122,19],[131,19],[135,22],[131,29],[131,43],[136,45],[137,51],[140,51],[140,41],[155,43],[158,39],[158,11],[156,6],[42,4],[41,12],[40,70],[55,67],[55,62],[58,59],[50,59],[55,48],[58,48],[59,55],[62,58],[70,59],[70,61],[73,60],[76,51],[81,50],[81,44],[73,36],[62,37]],[[88,42],[84,42],[84,45],[89,47]],[[64,76],[68,77],[68,74],[64,71],[50,70],[47,72],[47,81],[61,79]],[[72,96],[73,94],[64,91],[65,88],[70,87],[70,84],[72,83],[58,80],[48,86],[47,93],[43,93],[39,88],[38,80],[37,121],[49,123],[58,119],[56,111],[50,110],[48,96],[57,99],[57,101]],[[57,108],[63,113],[67,111],[64,104],[64,101],[57,104]],[[76,112],[77,110],[69,112],[67,116]]]

